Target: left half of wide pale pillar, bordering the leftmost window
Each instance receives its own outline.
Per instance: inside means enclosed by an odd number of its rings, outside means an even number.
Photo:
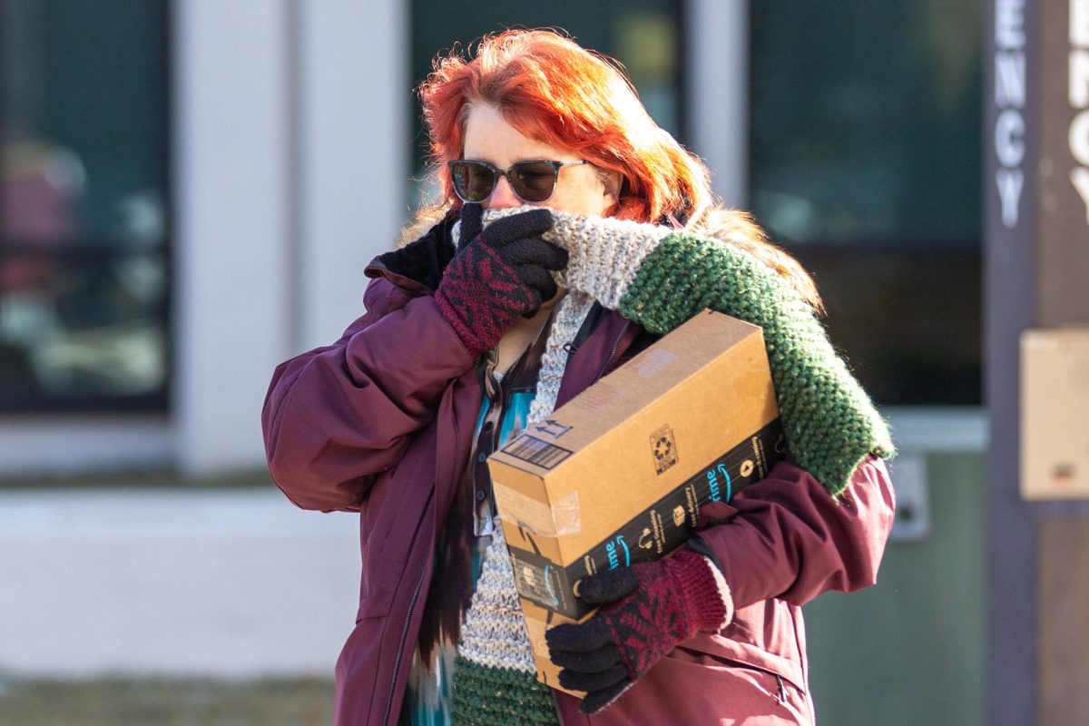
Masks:
[[[181,468],[264,462],[260,407],[290,349],[289,3],[173,9],[174,361]]]

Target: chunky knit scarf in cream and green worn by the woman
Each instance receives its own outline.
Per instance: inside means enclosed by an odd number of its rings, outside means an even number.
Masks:
[[[490,219],[524,209],[490,212]],[[717,239],[629,221],[554,212],[550,242],[567,249],[560,283],[568,288],[549,336],[530,421],[555,405],[565,344],[589,305],[620,310],[647,330],[668,333],[706,307],[760,325],[780,416],[798,464],[841,493],[870,452],[892,457],[885,422],[834,353],[812,309],[749,254]],[[501,532],[497,528],[497,533]],[[555,724],[550,689],[538,684],[502,536],[462,630],[454,672],[454,723]]]

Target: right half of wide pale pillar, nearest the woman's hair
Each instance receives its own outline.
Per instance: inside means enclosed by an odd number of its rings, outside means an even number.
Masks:
[[[363,313],[363,270],[408,217],[407,24],[399,2],[296,5],[299,350],[328,345]]]

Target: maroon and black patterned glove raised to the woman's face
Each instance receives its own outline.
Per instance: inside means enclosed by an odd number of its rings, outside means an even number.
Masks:
[[[462,210],[462,244],[442,273],[436,303],[473,356],[494,347],[517,317],[531,318],[556,294],[551,270],[567,253],[544,242],[552,213],[535,209],[480,231],[480,205]]]

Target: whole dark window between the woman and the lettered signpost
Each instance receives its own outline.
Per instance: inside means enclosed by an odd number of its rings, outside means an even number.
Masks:
[[[750,202],[885,405],[978,405],[981,5],[750,3]]]

